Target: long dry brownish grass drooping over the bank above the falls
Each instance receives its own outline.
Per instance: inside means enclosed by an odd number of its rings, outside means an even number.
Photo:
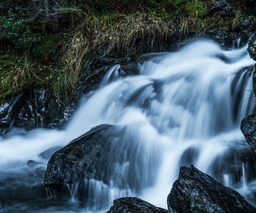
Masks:
[[[67,101],[75,89],[84,58],[101,47],[106,48],[102,57],[113,51],[129,54],[138,39],[152,43],[163,41],[175,30],[171,21],[166,22],[146,13],[85,17],[66,43],[62,57],[64,69],[57,72],[59,77],[54,84],[55,92]]]

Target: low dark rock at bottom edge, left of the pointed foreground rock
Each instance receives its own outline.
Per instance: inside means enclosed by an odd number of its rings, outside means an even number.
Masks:
[[[168,213],[166,209],[158,208],[137,197],[119,198],[113,201],[113,206],[107,213]]]

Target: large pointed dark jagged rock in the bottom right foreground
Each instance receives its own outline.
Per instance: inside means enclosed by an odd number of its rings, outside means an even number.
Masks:
[[[169,212],[177,213],[256,212],[254,206],[238,192],[223,186],[194,166],[180,167],[179,178],[172,185],[167,202]]]

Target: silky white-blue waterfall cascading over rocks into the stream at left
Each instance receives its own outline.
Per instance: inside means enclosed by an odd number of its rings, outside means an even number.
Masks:
[[[149,60],[138,63],[140,74],[133,77],[121,77],[120,66],[114,66],[99,89],[81,100],[64,131],[16,129],[0,138],[0,193],[41,184],[37,178],[32,178],[33,183],[24,178],[30,172],[27,160],[45,165],[47,161],[38,155],[47,148],[66,145],[96,125],[114,124],[126,131],[103,167],[114,158],[122,158],[123,163],[109,173],[110,184],[94,178],[84,181],[90,203],[82,209],[103,211],[113,199],[126,196],[166,208],[180,166],[190,164],[256,204],[252,195],[256,191],[256,161],[249,156],[240,131],[241,119],[252,113],[255,102],[253,65],[246,47],[224,51],[213,41],[199,40],[177,52],[149,55]],[[21,178],[13,178],[19,175]],[[79,185],[68,188],[76,203]],[[6,200],[12,195],[0,195],[7,196],[0,199],[0,211],[1,205],[5,211],[26,205],[22,199],[8,205]],[[54,197],[49,189],[44,196],[44,204]],[[34,204],[37,202],[35,199]],[[75,211],[70,204],[69,210]]]

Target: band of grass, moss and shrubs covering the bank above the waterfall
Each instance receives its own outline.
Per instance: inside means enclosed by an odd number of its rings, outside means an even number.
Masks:
[[[82,65],[104,47],[129,54],[135,41],[165,41],[174,33],[241,30],[244,13],[209,15],[200,0],[10,0],[0,3],[0,102],[46,85],[60,102],[72,96]]]

